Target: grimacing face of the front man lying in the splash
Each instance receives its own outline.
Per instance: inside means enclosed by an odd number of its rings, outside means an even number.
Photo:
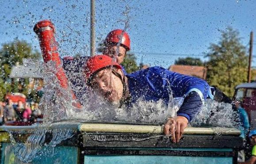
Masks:
[[[123,78],[121,69],[118,69],[116,72]],[[111,103],[118,103],[122,98],[122,80],[111,69],[99,71],[92,80],[91,85],[94,90]]]

